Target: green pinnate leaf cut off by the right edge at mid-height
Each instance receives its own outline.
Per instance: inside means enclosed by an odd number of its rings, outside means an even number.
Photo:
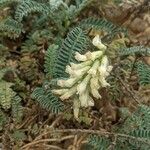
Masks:
[[[141,62],[137,63],[137,73],[141,85],[150,85],[150,66]]]

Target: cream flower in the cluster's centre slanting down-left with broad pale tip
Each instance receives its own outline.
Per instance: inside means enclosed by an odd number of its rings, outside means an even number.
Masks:
[[[77,86],[77,93],[78,93],[78,94],[82,94],[82,93],[85,92],[85,90],[86,90],[86,88],[87,88],[87,84],[88,84],[90,78],[91,78],[91,75],[88,74],[88,75],[83,79],[83,81],[81,81],[81,83],[78,84],[78,86]]]

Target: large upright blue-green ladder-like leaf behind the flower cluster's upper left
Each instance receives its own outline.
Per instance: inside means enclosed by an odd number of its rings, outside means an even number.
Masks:
[[[87,50],[89,41],[85,33],[80,28],[74,28],[67,36],[58,51],[56,63],[54,65],[54,78],[66,77],[66,65],[75,61],[74,53],[83,53]]]

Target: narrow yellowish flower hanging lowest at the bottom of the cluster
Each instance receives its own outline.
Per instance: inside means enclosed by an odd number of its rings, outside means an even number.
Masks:
[[[79,99],[73,99],[73,114],[76,119],[79,119],[79,112],[80,112],[80,101]]]

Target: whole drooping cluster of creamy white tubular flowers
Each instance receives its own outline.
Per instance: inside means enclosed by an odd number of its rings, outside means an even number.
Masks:
[[[104,54],[106,46],[101,43],[98,35],[93,39],[93,45],[99,50],[89,51],[84,55],[75,53],[75,59],[80,63],[70,63],[66,66],[66,73],[70,75],[70,78],[58,80],[57,85],[61,89],[52,90],[62,100],[70,97],[73,99],[75,118],[78,118],[80,107],[94,106],[91,96],[100,99],[101,95],[98,90],[101,87],[109,86],[106,77],[112,70],[112,66],[109,65],[108,57]]]

